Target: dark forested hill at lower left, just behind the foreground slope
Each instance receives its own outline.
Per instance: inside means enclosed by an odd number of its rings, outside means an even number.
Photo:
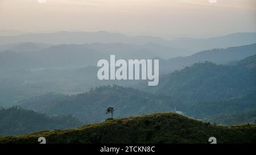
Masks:
[[[0,109],[0,136],[75,128],[80,125],[81,122],[70,115],[49,117],[20,107]]]

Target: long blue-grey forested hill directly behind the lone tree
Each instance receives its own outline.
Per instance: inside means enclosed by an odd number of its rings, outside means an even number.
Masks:
[[[170,112],[177,102],[166,95],[153,95],[122,86],[101,86],[77,95],[46,94],[23,100],[21,106],[47,115],[72,114],[84,123],[100,122],[109,117],[124,118],[154,112]]]

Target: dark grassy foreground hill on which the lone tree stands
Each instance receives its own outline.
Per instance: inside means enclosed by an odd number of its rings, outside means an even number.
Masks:
[[[0,143],[256,143],[256,125],[214,126],[185,116],[162,113],[86,125],[76,129],[43,131],[23,136],[0,137]]]

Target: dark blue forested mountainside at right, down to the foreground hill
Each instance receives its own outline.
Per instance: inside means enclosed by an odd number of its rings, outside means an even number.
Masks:
[[[237,65],[197,63],[180,71],[160,76],[159,85],[137,88],[164,94],[183,103],[179,110],[193,118],[248,112],[256,108],[256,55]]]

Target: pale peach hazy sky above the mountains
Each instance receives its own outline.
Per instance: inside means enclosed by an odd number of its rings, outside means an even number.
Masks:
[[[256,0],[0,0],[0,30],[161,37],[256,32]]]

